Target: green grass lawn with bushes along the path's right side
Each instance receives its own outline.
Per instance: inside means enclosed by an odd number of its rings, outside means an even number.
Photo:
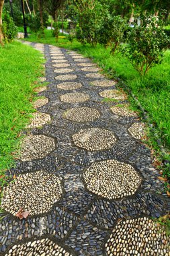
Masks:
[[[153,67],[142,78],[126,57],[123,57],[121,53],[114,56],[110,55],[110,50],[105,50],[102,46],[97,45],[96,48],[92,48],[88,44],[82,46],[77,40],[74,40],[73,44],[71,44],[67,36],[59,38],[58,42],[56,42],[50,30],[45,30],[44,38],[38,39],[36,34],[32,34],[28,40],[77,50],[98,63],[105,74],[110,75],[112,78],[120,77],[124,80],[148,113],[164,146],[170,148],[170,51],[165,53],[165,58],[161,65]],[[131,98],[130,101],[134,104]],[[156,146],[157,141],[152,141],[152,143],[155,143]]]

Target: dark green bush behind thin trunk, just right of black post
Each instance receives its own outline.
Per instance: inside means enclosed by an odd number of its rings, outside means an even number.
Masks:
[[[32,32],[38,32],[41,29],[40,12],[37,12],[36,15],[26,15],[26,20]],[[43,12],[43,22],[44,26],[46,26],[48,22],[48,13],[46,11]]]

